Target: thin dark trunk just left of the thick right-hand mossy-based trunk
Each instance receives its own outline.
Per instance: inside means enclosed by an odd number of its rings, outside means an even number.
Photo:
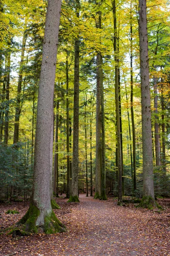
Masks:
[[[133,113],[133,38],[132,38],[132,1],[130,2],[130,111],[133,137],[133,192],[136,190],[136,138]]]

